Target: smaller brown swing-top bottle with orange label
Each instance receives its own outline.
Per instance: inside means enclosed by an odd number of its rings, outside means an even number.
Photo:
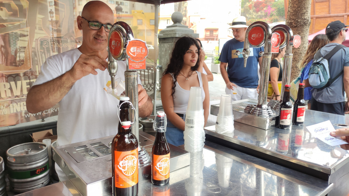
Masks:
[[[156,135],[151,149],[151,183],[157,186],[170,181],[170,148],[165,136],[166,121],[165,112],[158,111],[153,124]]]

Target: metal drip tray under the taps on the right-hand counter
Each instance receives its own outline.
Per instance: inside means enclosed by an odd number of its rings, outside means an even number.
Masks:
[[[234,121],[244,123],[253,127],[260,129],[270,129],[275,127],[277,120],[279,120],[279,113],[275,111],[274,108],[271,108],[274,115],[270,117],[267,116],[256,116],[250,114],[252,108],[258,104],[258,100],[255,99],[243,99],[232,102],[232,109],[234,115]],[[220,104],[211,105],[211,114],[218,115]]]

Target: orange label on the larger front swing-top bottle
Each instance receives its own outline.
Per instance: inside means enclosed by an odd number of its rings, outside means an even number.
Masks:
[[[138,183],[138,148],[114,151],[115,187],[128,188]]]

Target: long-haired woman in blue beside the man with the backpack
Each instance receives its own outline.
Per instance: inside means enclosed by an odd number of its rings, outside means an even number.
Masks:
[[[305,55],[302,59],[302,61],[299,64],[299,68],[302,69],[302,73],[300,74],[300,82],[305,83],[304,88],[304,100],[308,104],[308,109],[310,110],[311,106],[311,98],[313,97],[311,95],[311,85],[308,82],[308,75],[309,75],[309,69],[310,66],[313,63],[313,57],[315,53],[322,47],[324,47],[326,44],[328,44],[329,40],[325,34],[319,34],[314,37],[313,40],[311,40],[310,44],[308,45],[308,48],[305,52]]]

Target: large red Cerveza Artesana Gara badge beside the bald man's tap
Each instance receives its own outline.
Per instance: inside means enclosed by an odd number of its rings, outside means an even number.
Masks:
[[[146,69],[148,47],[145,42],[139,39],[128,41],[126,54],[128,56],[128,69]]]

